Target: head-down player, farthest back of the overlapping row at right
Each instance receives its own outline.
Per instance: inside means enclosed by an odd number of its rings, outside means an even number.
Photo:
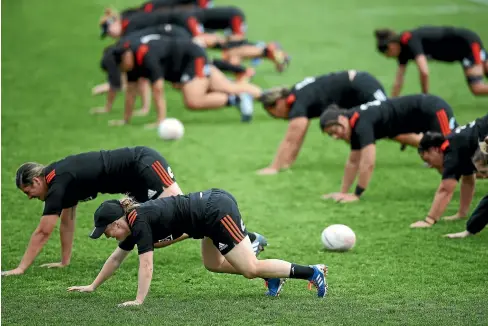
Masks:
[[[291,88],[266,90],[260,98],[273,117],[288,120],[288,129],[273,162],[258,174],[276,174],[295,162],[311,119],[331,104],[351,108],[374,100],[386,100],[381,83],[367,72],[348,70],[307,77]]]

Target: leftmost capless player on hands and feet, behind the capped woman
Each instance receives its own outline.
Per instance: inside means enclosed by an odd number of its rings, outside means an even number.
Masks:
[[[79,202],[96,198],[98,193],[128,193],[139,202],[182,194],[167,161],[155,150],[142,146],[71,155],[48,166],[25,163],[17,170],[15,182],[29,199],[37,198],[44,202],[44,212],[19,265],[2,272],[2,275],[23,274],[32,265],[59,217],[61,262],[42,266],[69,265],[76,207]],[[266,240],[258,234],[250,233],[250,236],[255,252],[259,253]],[[181,234],[178,238],[158,243],[156,247],[186,238],[188,235]]]

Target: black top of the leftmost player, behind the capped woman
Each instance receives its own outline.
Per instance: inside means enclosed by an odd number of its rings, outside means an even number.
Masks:
[[[48,193],[43,215],[92,200],[98,193],[128,193],[140,183],[136,163],[146,147],[125,147],[67,156],[46,166]]]

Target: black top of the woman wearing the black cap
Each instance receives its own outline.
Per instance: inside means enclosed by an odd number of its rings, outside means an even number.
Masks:
[[[130,251],[137,245],[140,255],[154,250],[154,243],[174,240],[183,233],[202,239],[206,194],[210,191],[158,198],[141,204],[127,215],[131,234],[119,247]]]

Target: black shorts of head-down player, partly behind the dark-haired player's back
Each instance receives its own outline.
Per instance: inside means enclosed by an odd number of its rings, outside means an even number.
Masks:
[[[368,72],[358,71],[351,82],[351,87],[355,91],[355,98],[358,101],[353,106],[387,99],[383,85]]]

